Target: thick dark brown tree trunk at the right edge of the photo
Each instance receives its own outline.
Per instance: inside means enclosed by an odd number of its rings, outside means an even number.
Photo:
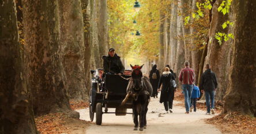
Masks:
[[[256,1],[234,1],[234,53],[224,112],[256,117]]]

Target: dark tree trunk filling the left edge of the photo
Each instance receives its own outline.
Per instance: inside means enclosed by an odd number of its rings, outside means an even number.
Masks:
[[[37,133],[14,0],[0,2],[0,133]]]

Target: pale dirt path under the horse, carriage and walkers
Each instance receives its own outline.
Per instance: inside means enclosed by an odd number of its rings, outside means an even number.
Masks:
[[[174,102],[175,104],[178,102]],[[103,114],[102,125],[96,125],[95,120],[86,129],[88,134],[111,133],[221,133],[213,125],[205,124],[204,118],[213,117],[198,110],[196,113],[185,114],[185,108],[174,106],[174,113],[165,113],[163,104],[159,103],[159,98],[152,98],[147,114],[147,128],[144,131],[133,131],[132,115],[115,116],[115,114]],[[89,109],[77,110],[80,112],[81,120],[89,120]],[[114,109],[109,109],[114,111]],[[127,109],[131,112],[131,109]]]

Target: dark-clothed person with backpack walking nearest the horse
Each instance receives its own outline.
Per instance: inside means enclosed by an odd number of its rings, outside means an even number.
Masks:
[[[149,73],[149,81],[153,87],[152,97],[154,97],[154,98],[155,97],[157,98],[157,95],[158,95],[157,86],[158,86],[159,79],[160,79],[160,73],[156,67],[157,67],[157,65],[154,64],[154,66],[152,67],[152,70],[150,70],[150,73]]]

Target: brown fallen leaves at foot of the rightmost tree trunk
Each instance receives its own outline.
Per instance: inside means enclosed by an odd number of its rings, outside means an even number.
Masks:
[[[256,118],[238,112],[219,114],[206,122],[217,125],[223,133],[256,133]]]

